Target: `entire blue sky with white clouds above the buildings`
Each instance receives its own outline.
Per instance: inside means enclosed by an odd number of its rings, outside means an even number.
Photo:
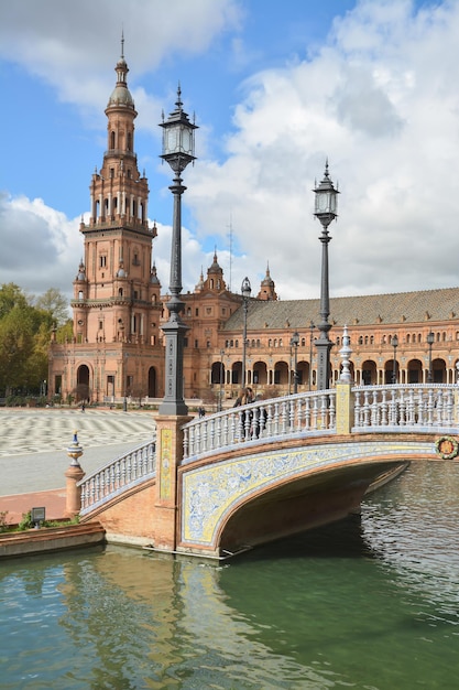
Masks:
[[[83,256],[121,32],[168,285],[171,170],[161,114],[199,126],[184,182],[184,290],[217,248],[234,291],[269,263],[316,298],[315,180],[339,183],[330,294],[459,284],[459,0],[3,0],[0,283],[66,294]]]

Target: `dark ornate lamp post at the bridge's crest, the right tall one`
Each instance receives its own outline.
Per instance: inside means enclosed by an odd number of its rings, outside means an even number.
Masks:
[[[331,237],[328,234],[328,226],[331,220],[337,217],[337,197],[338,190],[334,187],[328,174],[328,160],[325,164],[324,180],[314,190],[316,195],[314,215],[318,218],[323,226],[323,233],[319,237],[321,242],[321,280],[320,280],[320,323],[317,325],[319,337],[316,338],[317,348],[317,390],[324,390],[329,387],[330,374],[330,349],[332,342],[328,337],[331,324],[328,323],[330,315],[330,298],[328,288],[328,244]]]

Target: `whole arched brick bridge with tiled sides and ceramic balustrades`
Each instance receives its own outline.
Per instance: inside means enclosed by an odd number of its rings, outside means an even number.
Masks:
[[[343,384],[186,423],[159,417],[155,441],[81,482],[81,517],[223,557],[358,510],[407,462],[455,456],[458,414],[456,386]]]

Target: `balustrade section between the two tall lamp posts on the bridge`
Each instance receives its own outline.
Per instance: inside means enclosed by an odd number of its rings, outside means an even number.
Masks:
[[[183,462],[259,439],[335,430],[335,390],[260,400],[185,424]]]

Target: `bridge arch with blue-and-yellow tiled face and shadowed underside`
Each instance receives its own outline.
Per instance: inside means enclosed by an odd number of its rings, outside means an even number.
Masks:
[[[387,434],[339,443],[277,441],[242,457],[230,451],[211,464],[182,466],[178,550],[234,552],[339,519],[358,509],[368,487],[389,471],[436,457],[431,438]]]

